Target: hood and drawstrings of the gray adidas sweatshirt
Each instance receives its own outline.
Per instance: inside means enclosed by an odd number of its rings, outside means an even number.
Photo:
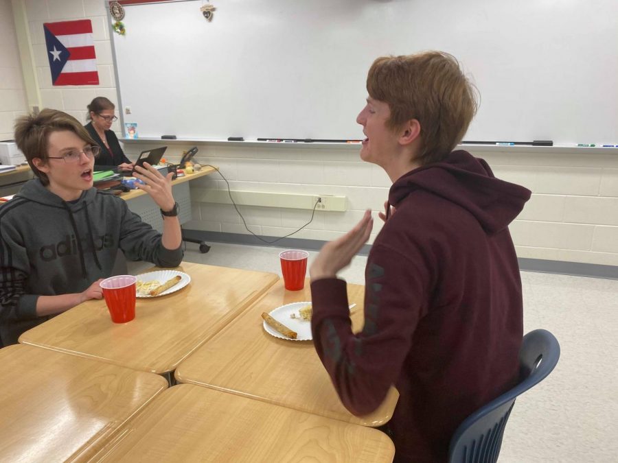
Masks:
[[[60,198],[60,196],[52,193],[47,188],[45,188],[41,183],[41,180],[38,180],[38,178],[36,178],[34,180],[26,182],[19,191],[19,193],[15,195],[16,198],[24,198],[25,200],[38,202],[39,204],[45,204],[46,206],[57,207],[58,213],[60,213],[60,211],[66,211],[69,217],[69,221],[71,222],[71,227],[73,228],[73,233],[76,236],[76,243],[79,249],[80,266],[82,269],[83,278],[87,278],[88,272],[86,269],[84,249],[82,248],[82,240],[80,237],[79,227],[76,222],[75,215],[82,212],[84,213],[84,222],[85,226],[87,227],[88,233],[86,239],[89,239],[92,249],[95,249],[92,222],[88,213],[88,206],[94,201],[96,194],[97,189],[87,189],[82,192],[82,195],[80,195],[80,198],[78,198],[78,200],[67,202]],[[95,264],[99,269],[101,269],[102,266],[96,252],[93,252],[93,257]]]

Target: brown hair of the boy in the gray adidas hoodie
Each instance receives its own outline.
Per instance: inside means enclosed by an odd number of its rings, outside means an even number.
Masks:
[[[32,163],[34,158],[47,162],[47,141],[49,134],[69,130],[80,137],[86,143],[95,146],[97,143],[91,138],[87,130],[75,117],[66,112],[45,108],[38,115],[27,115],[15,121],[15,142],[30,165],[30,169],[43,185],[49,185],[49,178],[45,172],[41,172]]]

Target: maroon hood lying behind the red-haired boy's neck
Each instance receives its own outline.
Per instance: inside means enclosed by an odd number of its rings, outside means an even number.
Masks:
[[[531,194],[529,189],[495,178],[488,163],[464,150],[451,152],[444,161],[419,167],[396,180],[389,191],[389,203],[397,207],[417,189],[466,209],[490,234],[506,228]]]

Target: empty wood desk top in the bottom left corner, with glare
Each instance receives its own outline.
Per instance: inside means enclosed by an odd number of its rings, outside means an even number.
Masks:
[[[85,461],[168,387],[158,375],[14,345],[0,350],[0,460]]]

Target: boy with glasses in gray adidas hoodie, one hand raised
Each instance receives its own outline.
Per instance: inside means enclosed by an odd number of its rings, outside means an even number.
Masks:
[[[176,267],[183,258],[172,174],[148,164],[135,177],[163,214],[163,234],[126,202],[93,187],[100,147],[70,115],[44,109],[21,117],[15,141],[34,171],[0,206],[0,346],[84,300],[102,298],[122,249],[127,259]]]

